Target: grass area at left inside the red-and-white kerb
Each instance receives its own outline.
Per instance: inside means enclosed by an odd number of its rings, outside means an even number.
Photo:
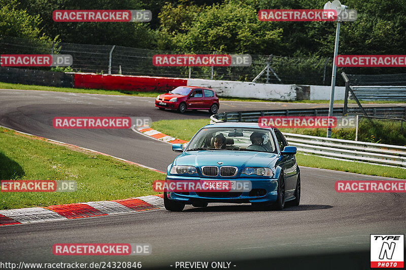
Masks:
[[[0,128],[0,179],[75,180],[75,192],[2,192],[0,210],[157,194],[164,174]]]

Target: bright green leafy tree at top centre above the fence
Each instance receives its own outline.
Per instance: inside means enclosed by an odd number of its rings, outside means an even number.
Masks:
[[[182,14],[191,9],[193,13]],[[263,53],[281,50],[282,29],[258,20],[257,11],[244,3],[226,1],[210,7],[164,7],[161,30],[181,51]],[[199,10],[199,12],[196,12]]]

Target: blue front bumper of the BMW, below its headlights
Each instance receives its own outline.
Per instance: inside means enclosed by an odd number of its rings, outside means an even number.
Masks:
[[[179,177],[167,176],[167,180],[188,180],[200,181],[205,178],[200,177]],[[194,201],[204,201],[208,203],[265,203],[275,202],[278,195],[278,179],[274,178],[210,178],[210,180],[232,180],[232,181],[250,181],[252,185],[251,191],[240,192],[167,192],[168,198],[175,201],[181,201],[186,204],[191,204]],[[258,195],[258,190],[261,190],[264,195]]]

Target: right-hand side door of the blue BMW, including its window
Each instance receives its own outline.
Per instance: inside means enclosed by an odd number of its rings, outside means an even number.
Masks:
[[[288,146],[288,142],[283,137],[282,133],[279,130],[274,130],[276,139],[278,141],[279,149],[282,152],[285,146]],[[281,153],[282,155],[282,153]],[[282,169],[284,170],[285,176],[285,189],[287,193],[287,198],[289,196],[288,193],[294,192],[296,188],[296,159],[295,155],[282,155],[282,162],[283,166]]]

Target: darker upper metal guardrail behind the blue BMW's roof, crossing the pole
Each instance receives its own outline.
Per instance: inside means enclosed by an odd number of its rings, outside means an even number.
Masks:
[[[406,106],[391,107],[364,107],[370,116],[374,117],[397,117],[406,119]],[[343,115],[344,108],[334,108],[333,115]],[[359,107],[347,108],[347,115],[362,114]],[[328,115],[328,108],[315,109],[277,109],[277,110],[251,110],[221,112],[215,114],[215,118],[224,122],[257,122],[261,116],[324,116]]]

